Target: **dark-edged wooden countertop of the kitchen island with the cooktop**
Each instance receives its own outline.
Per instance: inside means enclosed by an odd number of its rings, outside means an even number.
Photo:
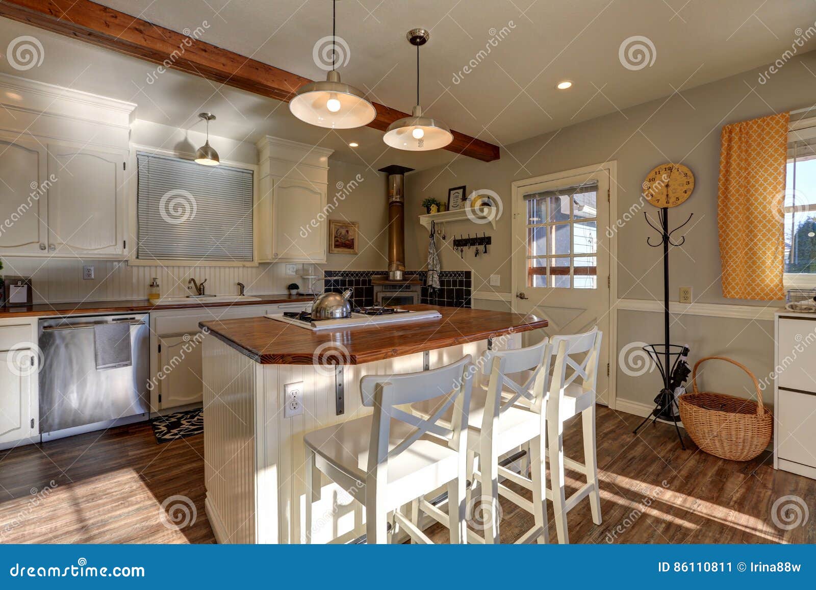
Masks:
[[[208,321],[200,326],[263,365],[362,365],[547,326],[540,317],[518,313],[432,305],[400,307],[437,309],[442,317],[325,331],[307,330],[268,317]]]

